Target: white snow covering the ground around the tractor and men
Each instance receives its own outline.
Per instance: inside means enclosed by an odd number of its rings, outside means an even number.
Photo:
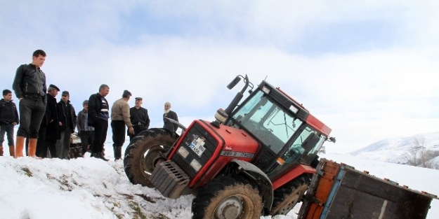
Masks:
[[[112,147],[106,143],[107,158]],[[376,153],[379,153],[376,152]],[[380,178],[390,178],[414,190],[439,194],[439,171],[367,160],[346,154],[322,155]],[[133,185],[122,160],[105,162],[89,157],[72,160],[0,157],[0,218],[191,218],[192,196],[163,197],[154,188]],[[300,204],[287,216],[295,219]],[[146,217],[145,217],[146,216]],[[433,199],[427,218],[439,218]]]

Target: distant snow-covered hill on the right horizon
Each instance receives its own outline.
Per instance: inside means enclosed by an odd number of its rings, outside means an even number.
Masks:
[[[384,139],[349,154],[369,160],[405,164],[406,160],[403,156],[417,145],[416,141],[427,150],[439,151],[439,132],[429,132],[402,138]],[[439,164],[439,157],[433,160]]]

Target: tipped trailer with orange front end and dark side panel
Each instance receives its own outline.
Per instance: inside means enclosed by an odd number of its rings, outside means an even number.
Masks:
[[[436,195],[411,190],[347,164],[321,159],[303,197],[299,219],[421,219]]]

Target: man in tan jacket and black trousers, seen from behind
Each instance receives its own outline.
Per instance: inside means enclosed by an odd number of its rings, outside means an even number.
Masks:
[[[131,92],[124,90],[122,98],[114,101],[111,108],[111,128],[113,131],[113,150],[114,161],[121,159],[122,146],[125,142],[125,125],[128,127],[128,132],[134,134],[133,125],[130,120],[130,110],[128,101],[131,97]]]

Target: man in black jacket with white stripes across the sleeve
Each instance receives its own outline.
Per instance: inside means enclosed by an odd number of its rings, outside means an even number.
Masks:
[[[95,139],[91,146],[91,157],[96,157],[105,161],[103,148],[105,139],[107,139],[108,129],[108,101],[105,99],[110,92],[108,85],[100,85],[99,92],[97,94],[91,94],[89,98],[89,126],[95,128]]]

